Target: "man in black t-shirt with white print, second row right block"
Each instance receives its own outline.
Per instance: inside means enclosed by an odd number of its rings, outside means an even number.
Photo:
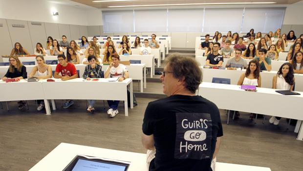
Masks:
[[[223,55],[219,54],[219,48],[220,44],[216,42],[214,44],[214,52],[207,55],[206,65],[211,67],[222,67]]]

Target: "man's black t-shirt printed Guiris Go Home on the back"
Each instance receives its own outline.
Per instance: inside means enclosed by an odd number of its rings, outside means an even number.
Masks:
[[[142,130],[153,134],[156,148],[150,171],[210,171],[216,137],[223,136],[218,108],[201,96],[150,102]]]

